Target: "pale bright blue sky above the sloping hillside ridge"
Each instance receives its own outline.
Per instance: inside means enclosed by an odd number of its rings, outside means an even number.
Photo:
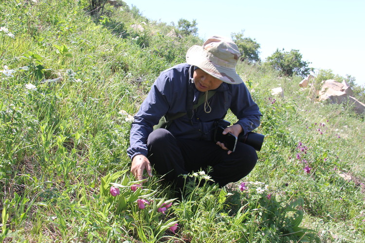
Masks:
[[[198,23],[198,34],[230,37],[244,30],[261,45],[261,60],[276,49],[299,50],[315,69],[365,85],[365,0],[124,0],[150,20]]]

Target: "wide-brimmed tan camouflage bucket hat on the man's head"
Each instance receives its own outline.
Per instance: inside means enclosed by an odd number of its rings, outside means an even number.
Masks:
[[[243,83],[236,72],[240,53],[229,38],[212,36],[202,46],[194,45],[186,52],[186,62],[219,80],[237,85]]]

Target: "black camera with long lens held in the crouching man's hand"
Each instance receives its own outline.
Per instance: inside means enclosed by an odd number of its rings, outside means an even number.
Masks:
[[[252,146],[256,151],[260,151],[262,147],[262,143],[264,142],[265,135],[254,133],[254,132],[248,132],[247,134],[239,134],[238,138],[236,138],[233,134],[229,133],[226,135],[222,135],[222,128],[226,128],[231,123],[229,121],[225,120],[218,120],[215,124],[215,131],[214,131],[214,141],[220,141],[223,142],[224,145],[229,146],[227,147],[229,150],[234,152],[236,149],[236,143],[237,141],[243,142],[247,145]],[[235,139],[236,138],[236,139]],[[236,140],[236,141],[235,141]]]

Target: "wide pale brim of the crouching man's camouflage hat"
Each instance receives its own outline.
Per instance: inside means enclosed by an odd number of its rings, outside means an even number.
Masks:
[[[243,80],[239,77],[236,69],[219,66],[209,59],[210,53],[204,51],[201,46],[194,45],[186,52],[186,62],[196,66],[206,73],[228,84],[241,84]]]

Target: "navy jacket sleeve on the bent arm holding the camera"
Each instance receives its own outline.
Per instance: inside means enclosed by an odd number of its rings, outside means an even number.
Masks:
[[[232,89],[231,111],[237,116],[243,129],[243,134],[253,131],[260,125],[261,112],[258,105],[253,101],[245,84],[237,85]]]

